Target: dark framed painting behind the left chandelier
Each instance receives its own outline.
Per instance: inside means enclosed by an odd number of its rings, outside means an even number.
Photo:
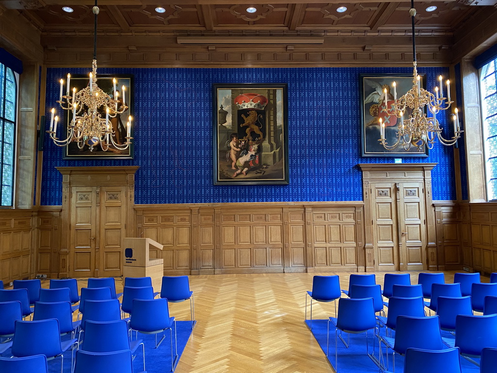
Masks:
[[[128,121],[128,117],[133,116],[133,76],[131,75],[97,75],[96,84],[98,87],[105,93],[107,93],[111,98],[113,98],[113,82],[112,79],[116,79],[116,87],[119,91],[119,94],[124,86],[126,88],[126,105],[128,108],[122,113],[116,115],[115,118],[109,118],[112,130],[114,131],[114,142],[117,144],[123,144],[126,142],[126,123]],[[76,87],[77,91],[82,90],[87,87],[89,84],[88,75],[74,75],[71,76],[71,90],[73,87]],[[87,108],[84,107],[84,110]],[[73,120],[73,111],[72,110],[64,110],[65,112],[65,123],[66,130],[68,129],[69,123]],[[105,116],[105,112],[102,109],[100,112],[102,117]],[[131,122],[131,137],[133,137],[133,121]],[[131,140],[133,141],[133,140]],[[89,150],[87,145],[84,145],[82,149],[78,147],[78,143],[71,142],[68,146],[64,147],[64,159],[132,159],[133,158],[133,143],[127,149],[120,150],[114,147],[112,144],[109,144],[109,149],[107,151],[103,151],[100,145],[96,146],[92,151]]]

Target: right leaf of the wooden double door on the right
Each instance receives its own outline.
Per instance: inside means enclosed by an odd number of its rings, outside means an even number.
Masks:
[[[401,183],[398,209],[401,239],[399,242],[399,270],[426,270],[426,220],[422,183]]]

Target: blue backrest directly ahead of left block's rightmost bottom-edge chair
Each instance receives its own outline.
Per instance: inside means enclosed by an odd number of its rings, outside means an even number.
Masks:
[[[84,326],[81,349],[88,352],[129,350],[128,323],[126,320],[87,320]],[[114,372],[114,370],[112,371]]]

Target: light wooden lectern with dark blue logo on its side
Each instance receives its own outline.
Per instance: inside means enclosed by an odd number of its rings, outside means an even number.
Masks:
[[[164,259],[150,259],[150,246],[163,249],[163,245],[150,238],[124,238],[123,276],[150,277],[154,291],[161,291]]]

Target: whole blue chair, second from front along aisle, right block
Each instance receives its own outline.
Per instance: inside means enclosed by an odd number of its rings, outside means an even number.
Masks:
[[[330,323],[335,329],[335,371],[338,372],[338,338],[343,345],[348,348],[349,344],[342,338],[342,332],[349,334],[366,333],[366,354],[375,361],[373,354],[369,354],[368,330],[377,330],[376,317],[374,312],[373,298],[352,299],[340,298],[338,300],[338,314],[336,319],[328,319],[326,356],[330,352]],[[338,331],[340,333],[338,334]],[[376,335],[377,333],[374,333]]]

